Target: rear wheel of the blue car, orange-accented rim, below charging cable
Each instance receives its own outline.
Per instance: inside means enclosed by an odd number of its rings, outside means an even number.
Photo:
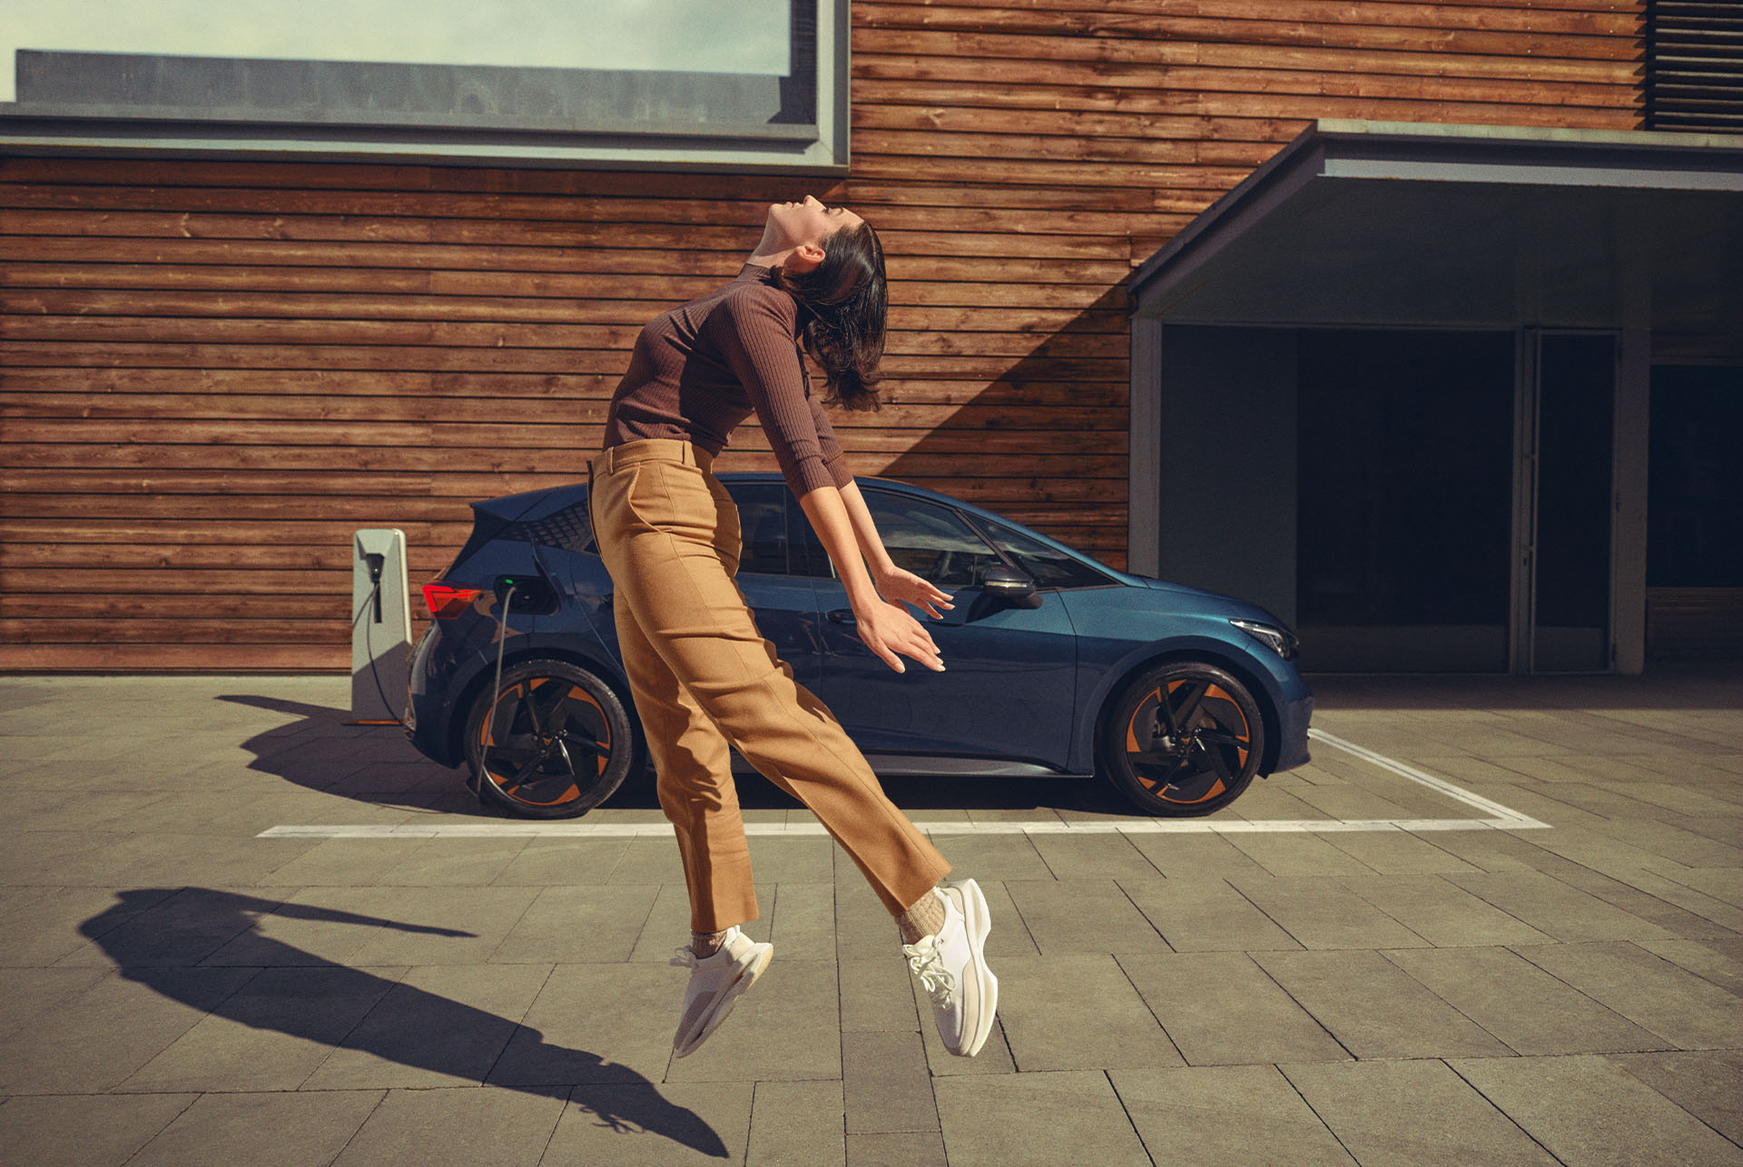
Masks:
[[[486,683],[465,718],[472,780],[486,799],[528,819],[587,813],[629,775],[634,754],[617,693],[566,660],[504,669],[500,697]]]

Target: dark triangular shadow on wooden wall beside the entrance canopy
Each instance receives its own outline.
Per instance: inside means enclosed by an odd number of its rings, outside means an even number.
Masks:
[[[1109,287],[990,380],[964,376],[964,388],[981,385],[974,399],[927,428],[882,474],[985,505],[1126,570],[1131,399],[1126,305],[1124,284]],[[899,312],[892,310],[892,317]],[[910,362],[917,380],[950,376],[948,368],[959,362],[953,345],[973,343],[974,336],[941,333],[924,368],[912,359],[887,359],[892,366],[887,404],[931,397],[927,390],[901,385]],[[964,369],[983,362],[960,361]],[[840,428],[847,416],[859,420],[837,409],[831,422]]]

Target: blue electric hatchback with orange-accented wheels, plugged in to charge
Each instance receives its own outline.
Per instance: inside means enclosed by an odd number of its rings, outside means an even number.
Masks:
[[[896,672],[776,472],[718,476],[739,509],[737,582],[795,679],[878,773],[1102,773],[1136,806],[1199,815],[1307,761],[1312,695],[1293,632],[1255,604],[1116,571],[973,503],[856,479],[891,557],[952,594],[913,610],[946,671]],[[617,653],[587,486],[472,503],[472,535],[424,585],[406,733],[467,766],[481,799],[579,815],[648,765]],[[504,613],[505,618],[504,618]],[[734,752],[734,768],[749,766]]]

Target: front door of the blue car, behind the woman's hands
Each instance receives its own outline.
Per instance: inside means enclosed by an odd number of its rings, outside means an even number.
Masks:
[[[847,590],[797,502],[807,538],[800,570],[816,577],[823,615],[823,678],[817,695],[866,752],[962,754],[1065,765],[1075,704],[1077,648],[1056,592],[1039,608],[994,601],[981,573],[1009,564],[953,507],[861,484],[884,547],[898,566],[952,592],[934,620],[910,608],[931,632],[943,672],[903,657],[891,669],[859,639]]]

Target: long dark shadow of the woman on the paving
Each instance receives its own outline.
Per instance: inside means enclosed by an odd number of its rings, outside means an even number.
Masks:
[[[174,913],[173,920],[155,920],[148,927],[148,916],[141,920],[141,914],[166,907]],[[654,1083],[634,1069],[608,1062],[589,1050],[547,1045],[540,1031],[518,1026],[505,1017],[399,981],[336,965],[314,953],[274,941],[260,934],[258,920],[265,914],[324,923],[356,923],[425,935],[472,935],[455,928],[378,920],[314,904],[274,902],[197,887],[167,894],[166,888],[117,892],[117,902],[78,925],[78,932],[115,961],[122,977],[138,981],[202,1014],[211,1012],[256,1029],[277,1029],[336,1049],[364,1050],[403,1066],[471,1078],[479,1085],[521,1090],[540,1097],[566,1097],[589,1110],[600,1125],[612,1130],[659,1134],[702,1155],[727,1158],[727,1146],[713,1127],[694,1111],[662,1099]],[[139,927],[127,927],[129,921]],[[307,998],[298,995],[286,995],[274,1002],[260,993],[228,991],[223,1000],[214,1003],[213,986],[199,977],[190,977],[188,970],[218,946],[241,935],[248,935],[248,967],[268,970],[293,967],[298,972],[328,970],[321,977],[322,996],[371,1002],[368,1012],[356,1024],[335,1031],[331,1014],[310,1008]],[[143,963],[145,960],[152,963]],[[239,986],[232,986],[232,989],[235,988]],[[371,1024],[370,1014],[389,993],[396,998],[390,1022]],[[406,1024],[406,1021],[413,1024]],[[495,1080],[493,1068],[511,1042],[514,1064],[537,1068],[530,1076],[558,1076],[566,1082],[558,1085]],[[514,1076],[512,1071],[509,1076]]]

